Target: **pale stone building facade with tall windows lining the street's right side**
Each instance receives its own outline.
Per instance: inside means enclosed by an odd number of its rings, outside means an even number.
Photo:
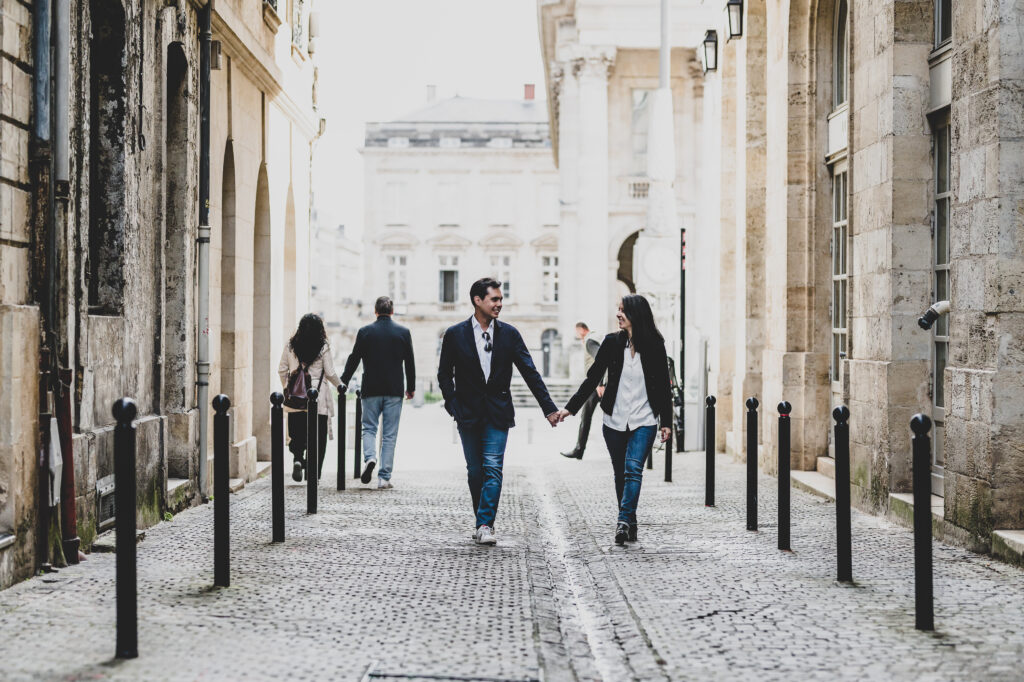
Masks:
[[[719,443],[740,454],[757,396],[774,470],[785,399],[794,469],[829,476],[830,413],[846,404],[855,502],[898,515],[909,421],[929,415],[937,526],[998,549],[1024,529],[1024,13],[985,0],[743,12],[741,37],[708,27]],[[941,300],[949,314],[919,327]]]

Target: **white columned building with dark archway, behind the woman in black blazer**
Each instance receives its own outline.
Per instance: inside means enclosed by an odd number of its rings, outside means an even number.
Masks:
[[[634,251],[647,219],[647,132],[651,95],[658,87],[659,1],[539,0],[541,51],[547,67],[552,157],[561,202],[559,257],[563,269],[559,329],[575,318],[613,329],[614,303],[642,291],[642,283],[679,279],[680,251],[670,257]],[[705,82],[694,45],[722,20],[699,0],[674,0],[671,81],[676,151],[676,214],[686,230],[686,446],[699,447],[692,418],[702,414],[709,368],[706,348],[717,345],[718,185],[698,170],[705,140],[717,135],[707,121]],[[714,138],[713,136],[711,137]],[[714,176],[713,176],[714,177]],[[681,245],[680,245],[681,250]],[[673,268],[672,273],[663,272]],[[657,272],[641,268],[658,268]],[[638,285],[641,290],[638,291]],[[678,308],[679,297],[674,302]],[[663,329],[677,367],[681,327]],[[663,323],[663,327],[668,327]],[[579,344],[566,342],[569,367],[582,371]],[[677,370],[678,371],[678,370]]]

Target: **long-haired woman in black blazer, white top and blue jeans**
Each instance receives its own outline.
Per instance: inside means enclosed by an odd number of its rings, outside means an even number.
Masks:
[[[636,542],[644,461],[659,428],[662,442],[669,439],[673,415],[665,339],[654,325],[650,304],[643,296],[625,296],[615,317],[620,331],[604,337],[593,367],[559,412],[559,420],[577,414],[608,373],[601,409],[618,502],[615,544],[622,545]]]

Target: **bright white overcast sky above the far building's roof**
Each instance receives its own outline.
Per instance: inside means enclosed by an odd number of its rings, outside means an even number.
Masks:
[[[362,230],[364,124],[437,96],[544,96],[537,0],[319,0],[319,104],[328,119],[313,190],[324,216]]]

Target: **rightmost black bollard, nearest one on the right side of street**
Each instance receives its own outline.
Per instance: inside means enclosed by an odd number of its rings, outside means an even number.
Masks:
[[[918,630],[935,630],[932,603],[932,420],[914,415],[913,431],[913,595]]]

